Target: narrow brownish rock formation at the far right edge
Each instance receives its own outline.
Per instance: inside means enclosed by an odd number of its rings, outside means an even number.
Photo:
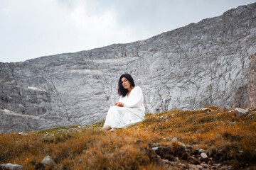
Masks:
[[[250,57],[248,72],[248,108],[256,108],[256,53]]]

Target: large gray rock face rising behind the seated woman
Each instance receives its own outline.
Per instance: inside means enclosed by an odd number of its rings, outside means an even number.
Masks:
[[[247,98],[240,87],[247,87],[255,38],[250,4],[147,40],[0,63],[0,132],[102,120],[125,72],[141,86],[149,113],[233,106],[235,95]]]

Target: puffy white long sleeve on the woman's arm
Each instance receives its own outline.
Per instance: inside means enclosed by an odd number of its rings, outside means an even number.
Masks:
[[[144,97],[142,94],[142,89],[139,86],[134,87],[132,89],[131,94],[127,98],[126,101],[124,101],[124,107],[127,108],[139,108],[143,105]]]

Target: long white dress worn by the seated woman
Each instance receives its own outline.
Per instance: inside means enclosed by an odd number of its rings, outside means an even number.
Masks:
[[[107,112],[104,127],[108,125],[111,128],[124,128],[127,125],[144,120],[144,97],[139,86],[132,89],[129,97],[120,96],[119,102],[124,103],[124,107],[111,106]]]

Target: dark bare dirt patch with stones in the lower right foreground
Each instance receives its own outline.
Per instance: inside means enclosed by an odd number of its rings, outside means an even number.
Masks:
[[[155,147],[155,153],[164,164],[175,165],[181,169],[189,169],[192,166],[203,169],[206,165],[209,169],[245,169],[256,165],[256,152],[240,150],[237,146],[206,151],[206,159],[201,157],[199,149],[186,149],[176,143]]]

